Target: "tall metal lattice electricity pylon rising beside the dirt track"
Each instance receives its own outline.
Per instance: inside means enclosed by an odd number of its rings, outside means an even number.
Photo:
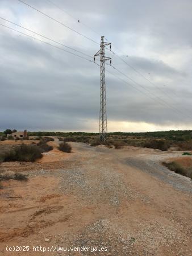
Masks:
[[[101,87],[100,87],[100,114],[99,114],[99,137],[100,141],[106,141],[107,139],[107,108],[106,108],[106,85],[105,85],[105,61],[111,58],[105,57],[105,47],[110,46],[111,43],[104,42],[104,37],[101,37],[100,50],[94,55],[95,57],[100,55],[100,76],[101,76]]]

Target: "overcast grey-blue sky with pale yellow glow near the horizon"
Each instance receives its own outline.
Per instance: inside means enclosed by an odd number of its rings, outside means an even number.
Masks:
[[[77,32],[18,0],[0,0],[1,131],[98,132],[100,63],[89,60],[101,35],[112,49],[108,132],[191,129],[191,0],[22,1]]]

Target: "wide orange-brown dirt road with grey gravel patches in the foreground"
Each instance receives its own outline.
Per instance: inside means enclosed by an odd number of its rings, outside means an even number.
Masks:
[[[1,164],[28,175],[1,189],[1,255],[192,255],[191,181],[160,164],[180,152],[71,144],[72,154]],[[83,246],[92,252],[74,251]]]

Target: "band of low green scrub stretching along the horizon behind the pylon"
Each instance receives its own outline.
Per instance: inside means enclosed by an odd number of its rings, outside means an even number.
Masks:
[[[3,134],[10,132],[7,129]],[[156,131],[148,133],[108,133],[108,141],[105,143],[98,142],[98,133],[82,133],[82,132],[52,132],[52,131],[36,131],[28,132],[30,136],[37,136],[40,141],[53,141],[49,136],[57,136],[60,141],[65,142],[82,142],[89,143],[91,146],[105,144],[107,147],[120,148],[123,146],[149,147],[159,150],[168,150],[169,147],[175,147],[178,150],[192,151],[192,131]],[[10,139],[12,139],[10,137]]]

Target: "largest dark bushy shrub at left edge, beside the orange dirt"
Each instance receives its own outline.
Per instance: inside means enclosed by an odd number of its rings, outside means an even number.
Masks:
[[[42,157],[41,150],[36,145],[21,144],[16,146],[13,150],[5,152],[0,156],[3,162],[21,161],[21,162],[35,162],[36,159]]]

